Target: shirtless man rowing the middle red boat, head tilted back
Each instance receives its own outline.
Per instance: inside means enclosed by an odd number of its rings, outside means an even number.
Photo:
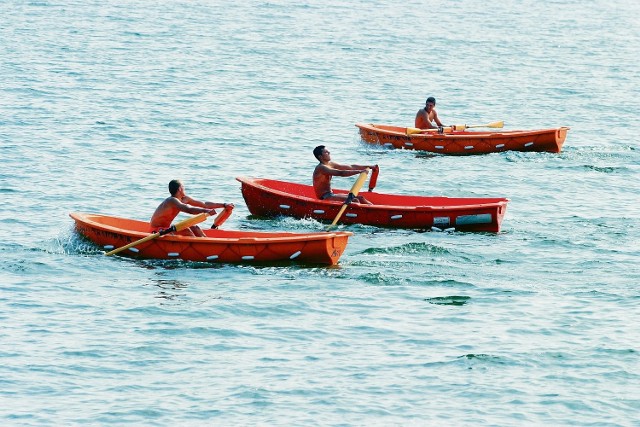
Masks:
[[[347,200],[347,194],[334,194],[331,191],[331,178],[334,176],[353,176],[364,172],[367,168],[377,168],[374,166],[362,166],[362,165],[341,165],[331,161],[331,153],[324,145],[318,145],[313,149],[313,155],[320,162],[313,171],[313,189],[316,192],[316,196],[320,200]],[[354,203],[364,203],[371,205],[372,203],[362,196],[357,196],[353,199]]]

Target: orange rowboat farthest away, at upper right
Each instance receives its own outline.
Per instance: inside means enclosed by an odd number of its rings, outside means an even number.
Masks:
[[[542,151],[559,153],[568,127],[542,130],[453,131],[407,135],[407,128],[356,123],[363,141],[388,148],[404,148],[449,155],[500,153],[503,151]]]

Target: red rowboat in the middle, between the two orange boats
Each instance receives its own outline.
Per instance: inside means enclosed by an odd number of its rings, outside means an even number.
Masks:
[[[342,203],[320,200],[310,185],[264,178],[236,178],[242,196],[253,215],[314,218],[331,222]],[[333,190],[347,194],[347,190]],[[351,203],[339,222],[389,228],[455,229],[459,231],[500,231],[507,210],[506,198],[451,198],[403,196],[371,191],[360,192],[374,205]]]

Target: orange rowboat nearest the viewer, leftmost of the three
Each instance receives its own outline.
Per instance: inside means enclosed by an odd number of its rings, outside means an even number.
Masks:
[[[104,250],[148,236],[149,223],[107,215],[71,213],[78,233]],[[206,237],[164,235],[120,252],[136,258],[216,263],[295,261],[335,265],[344,253],[347,231],[285,233],[205,229]]]

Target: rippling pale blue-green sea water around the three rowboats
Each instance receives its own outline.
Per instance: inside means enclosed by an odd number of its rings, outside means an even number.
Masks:
[[[0,424],[640,425],[640,5],[0,2]],[[445,157],[356,122],[570,126]],[[502,196],[499,234],[349,226],[336,267],[105,257],[69,212],[147,219],[173,178]],[[337,178],[349,188],[352,178]],[[343,227],[344,228],[344,227]]]

